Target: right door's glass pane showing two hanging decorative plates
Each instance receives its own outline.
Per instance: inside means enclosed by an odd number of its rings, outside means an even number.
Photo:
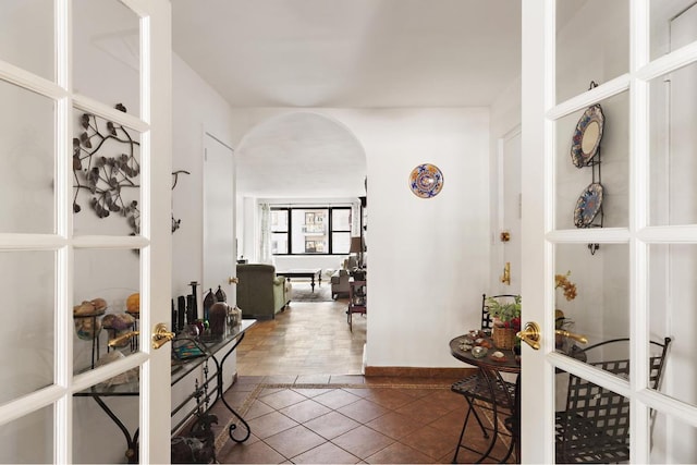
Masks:
[[[629,94],[557,121],[555,228],[626,227]]]

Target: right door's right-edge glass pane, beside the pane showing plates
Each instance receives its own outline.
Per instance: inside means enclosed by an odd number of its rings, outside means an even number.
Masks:
[[[696,79],[697,64],[692,64],[649,84],[653,225],[697,223]]]

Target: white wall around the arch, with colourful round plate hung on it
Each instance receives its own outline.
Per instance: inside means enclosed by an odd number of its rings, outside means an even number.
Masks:
[[[235,110],[235,131],[242,137],[293,111]],[[367,365],[461,367],[448,341],[479,323],[480,295],[489,282],[489,111],[311,111],[344,124],[366,154]],[[443,172],[443,189],[431,199],[416,197],[408,187],[409,173],[421,163]]]

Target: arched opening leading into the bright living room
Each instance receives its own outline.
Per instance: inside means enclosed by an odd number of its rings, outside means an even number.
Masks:
[[[364,231],[359,198],[364,197],[365,200],[366,196],[366,156],[362,144],[348,129],[332,118],[316,112],[293,111],[270,118],[247,132],[235,151],[235,162],[239,256],[249,262],[271,261],[277,271],[320,269],[322,291],[327,293],[331,286],[330,274],[341,268],[350,256],[347,245],[345,249],[332,246],[311,252],[299,247],[281,252],[274,247],[274,255],[269,257],[259,246],[260,237],[265,235],[262,230],[266,230],[260,227],[260,206],[295,210],[318,207],[326,208],[330,216],[344,208],[351,218],[351,232],[344,232],[344,237],[350,240],[351,236],[360,235]],[[334,230],[328,233],[334,240],[339,234]],[[295,296],[297,289],[304,284],[296,284],[295,280],[293,284],[292,295]],[[358,327],[352,333],[346,325],[346,302],[340,297],[308,304],[291,298],[288,310],[277,314],[273,321],[261,325],[266,331],[280,331],[288,326],[285,322],[277,325],[276,321],[291,321],[309,328],[301,335],[308,341],[301,342],[296,341],[297,336],[292,338],[292,343],[286,347],[277,347],[274,354],[274,357],[288,357],[286,363],[276,367],[270,363],[268,369],[257,363],[255,371],[249,374],[308,375],[310,365],[317,365],[318,356],[326,356],[329,360],[323,368],[317,368],[317,372],[359,374],[367,319],[363,318],[363,328]],[[315,317],[310,318],[310,314]],[[283,328],[277,328],[279,326]],[[282,338],[278,331],[271,338]],[[291,338],[283,339],[288,342]],[[247,344],[254,342],[254,338],[248,338]],[[268,343],[268,338],[265,343]],[[315,359],[311,364],[305,364],[303,357],[309,345],[315,348]],[[294,366],[297,372],[293,372]],[[242,375],[248,371],[244,356],[239,357],[239,371]]]

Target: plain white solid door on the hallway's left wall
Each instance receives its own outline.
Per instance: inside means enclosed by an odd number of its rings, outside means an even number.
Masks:
[[[204,137],[204,295],[220,285],[233,305],[234,287],[229,281],[236,274],[233,150],[209,133]]]

